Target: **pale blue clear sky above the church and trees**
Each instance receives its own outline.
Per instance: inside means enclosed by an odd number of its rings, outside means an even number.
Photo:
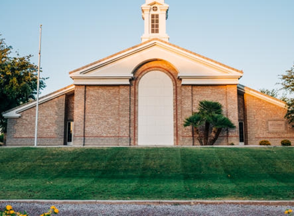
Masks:
[[[42,95],[72,83],[68,72],[140,44],[145,0],[0,0],[0,34],[37,64],[43,25]],[[279,88],[294,63],[294,0],[166,0],[171,44],[227,64],[250,88]]]

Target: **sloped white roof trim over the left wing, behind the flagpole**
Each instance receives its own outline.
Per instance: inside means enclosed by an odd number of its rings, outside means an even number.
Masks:
[[[56,91],[56,92],[53,92],[53,93],[51,93],[49,95],[45,95],[44,97],[41,97],[39,99],[39,104],[45,103],[48,100],[51,100],[51,99],[56,98],[56,97],[59,97],[59,96],[64,95],[64,94],[66,94],[68,92],[71,92],[73,90],[74,90],[74,85],[70,85],[69,87],[66,87],[66,88],[61,89],[61,90]],[[34,107],[35,105],[36,105],[36,101],[28,102],[28,103],[26,103],[24,105],[17,106],[17,107],[15,107],[12,110],[3,113],[3,116],[5,118],[19,118],[19,117],[22,116],[19,113],[21,113],[21,112],[23,112],[25,110],[28,110],[31,107]]]

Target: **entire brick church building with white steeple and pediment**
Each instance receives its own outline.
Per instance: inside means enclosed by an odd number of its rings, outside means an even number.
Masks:
[[[38,145],[199,145],[183,122],[201,100],[220,102],[236,125],[217,145],[294,142],[283,101],[239,84],[243,71],[168,42],[168,8],[146,0],[141,44],[71,71],[72,85],[40,98]],[[8,146],[34,144],[35,109],[4,113]]]

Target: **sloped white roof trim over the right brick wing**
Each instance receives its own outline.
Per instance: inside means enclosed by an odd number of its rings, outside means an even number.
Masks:
[[[244,92],[245,94],[257,97],[259,99],[265,100],[265,101],[267,101],[269,103],[272,103],[272,104],[275,104],[275,105],[278,105],[280,107],[283,107],[283,108],[287,109],[286,103],[284,101],[279,100],[279,99],[274,98],[274,97],[270,97],[270,96],[268,96],[266,94],[263,94],[263,93],[258,92],[256,90],[245,87],[244,85],[239,84],[238,85],[238,90],[240,90],[241,92]]]

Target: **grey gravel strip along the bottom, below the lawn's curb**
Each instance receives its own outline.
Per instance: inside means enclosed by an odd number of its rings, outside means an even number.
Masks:
[[[30,216],[40,216],[46,212],[52,204],[42,203],[22,203],[10,202],[0,203],[0,209],[6,205],[12,205],[15,211],[26,210]],[[106,205],[106,204],[56,204],[60,213],[59,216],[94,216],[94,215],[128,215],[128,216],[160,216],[160,215],[179,215],[179,216],[235,216],[235,215],[285,215],[287,208],[294,209],[294,206],[268,206],[268,205]]]

